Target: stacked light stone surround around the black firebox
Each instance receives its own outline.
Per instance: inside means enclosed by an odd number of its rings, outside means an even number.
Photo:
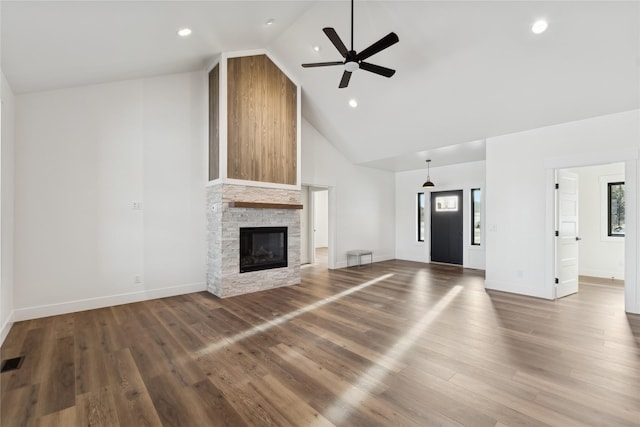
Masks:
[[[300,210],[231,208],[229,202],[299,204],[300,191],[216,184],[207,187],[207,288],[220,298],[300,283]],[[240,273],[241,227],[287,227],[287,267]]]

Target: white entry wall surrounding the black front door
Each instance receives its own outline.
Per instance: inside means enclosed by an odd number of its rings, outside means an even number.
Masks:
[[[436,183],[432,191],[463,190],[464,252],[463,266],[484,269],[484,246],[471,245],[471,189],[485,188],[485,162],[471,162],[431,168],[431,179]],[[396,257],[409,261],[429,262],[430,251],[430,191],[422,188],[427,170],[418,169],[396,173]],[[417,194],[425,193],[425,240],[418,241]],[[481,219],[481,224],[484,221]],[[483,229],[484,232],[484,229]],[[483,233],[484,234],[484,233]]]

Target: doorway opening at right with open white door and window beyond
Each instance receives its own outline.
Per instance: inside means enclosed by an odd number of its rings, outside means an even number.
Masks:
[[[555,171],[554,298],[582,286],[625,292],[625,163]]]

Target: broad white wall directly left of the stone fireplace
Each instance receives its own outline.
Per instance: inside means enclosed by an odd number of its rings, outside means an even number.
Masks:
[[[206,93],[196,72],[16,97],[18,320],[206,288]]]

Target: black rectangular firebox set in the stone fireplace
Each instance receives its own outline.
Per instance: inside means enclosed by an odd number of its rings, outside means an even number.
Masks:
[[[240,228],[240,273],[287,266],[287,227]]]

